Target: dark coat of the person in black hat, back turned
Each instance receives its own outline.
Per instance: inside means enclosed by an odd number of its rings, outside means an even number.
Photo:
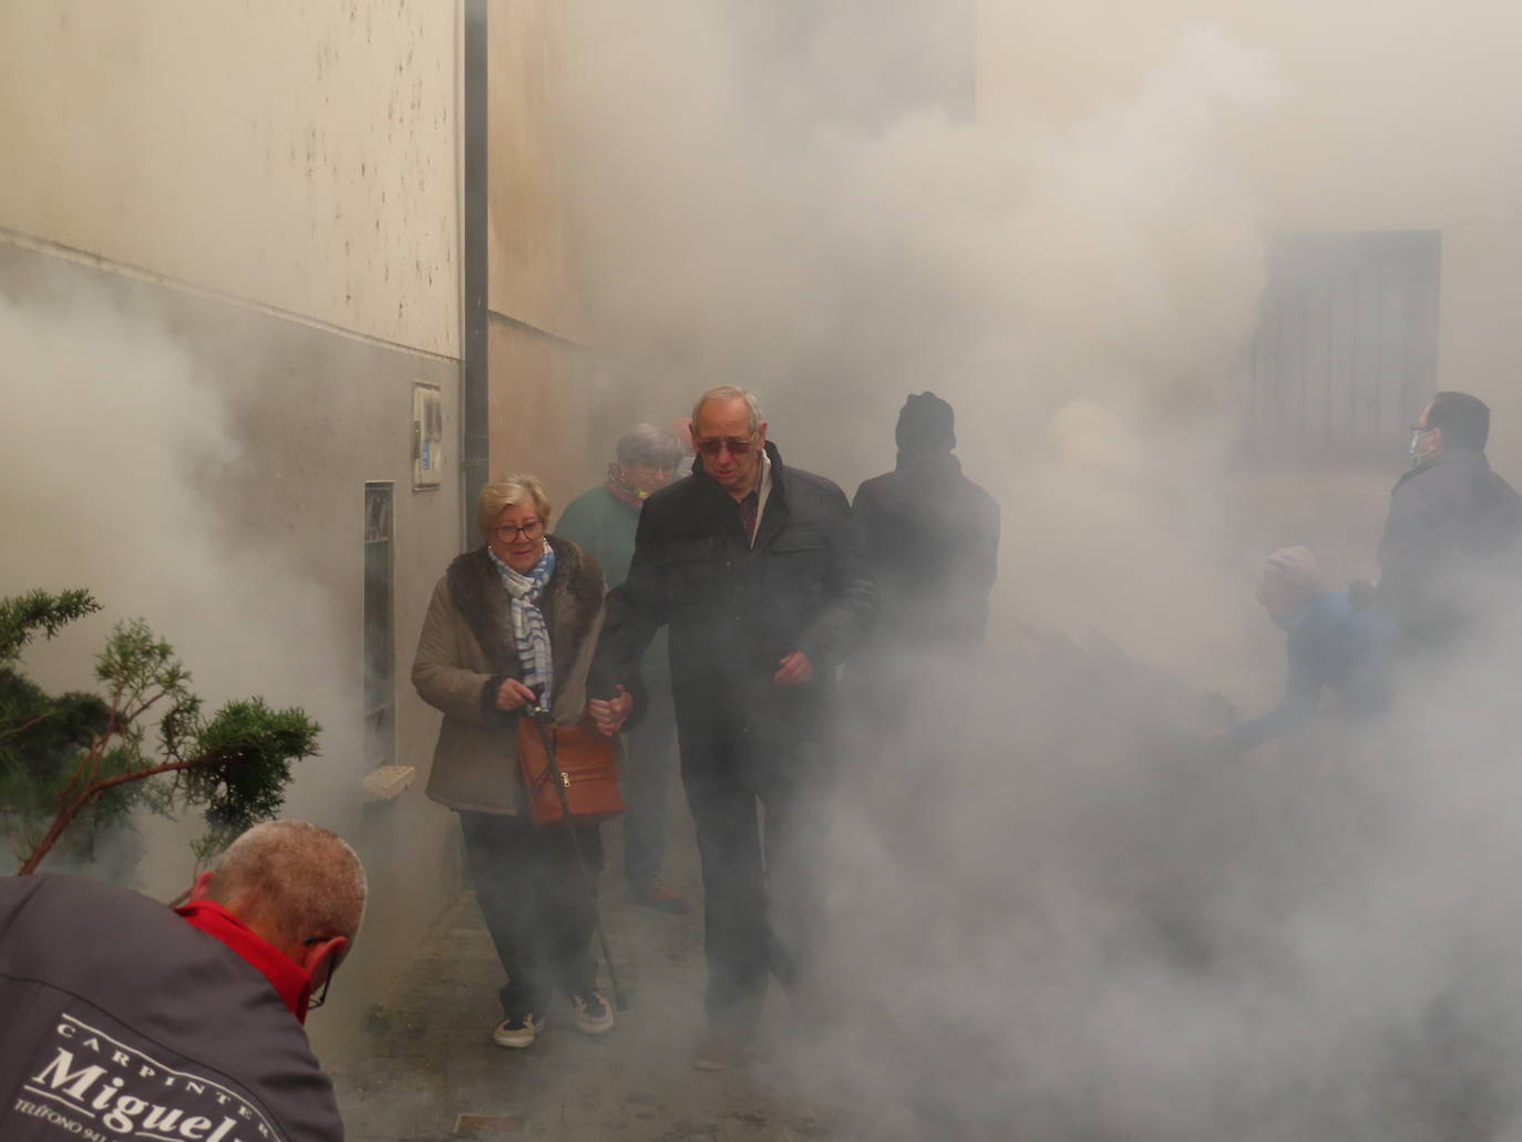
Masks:
[[[852,504],[881,614],[872,646],[982,643],[998,576],[998,504],[950,452],[904,454]]]

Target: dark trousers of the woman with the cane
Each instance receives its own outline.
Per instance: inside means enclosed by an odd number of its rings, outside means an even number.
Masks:
[[[543,1013],[556,987],[597,987],[592,926],[597,895],[565,828],[534,828],[527,818],[460,813],[476,900],[507,971],[502,1014]],[[597,825],[577,830],[581,853],[603,868]]]

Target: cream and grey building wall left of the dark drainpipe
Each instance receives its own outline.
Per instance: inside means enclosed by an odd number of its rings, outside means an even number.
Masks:
[[[339,830],[370,869],[365,936],[310,1023],[320,1052],[384,997],[463,883],[452,815],[423,796],[438,714],[408,682],[461,516],[458,40],[455,3],[0,6],[0,308],[65,314],[82,340],[122,338],[125,321],[123,355],[142,340],[155,361],[187,361],[225,422],[225,446],[187,477],[193,534],[134,533],[152,506],[111,504],[122,536],[154,545],[135,563],[161,559],[170,585],[196,576],[123,606],[184,652],[209,707],[259,693],[307,708],[323,755],[298,766],[288,812]],[[123,365],[145,404],[160,397],[152,364]],[[85,381],[64,370],[6,384],[50,385],[47,399],[99,417]],[[441,487],[423,492],[411,490],[416,381],[444,397],[447,463]],[[8,544],[37,556],[27,574],[52,574],[43,516],[73,502],[75,475],[76,499],[99,502],[102,474],[180,443],[167,431],[111,442],[38,489],[38,516],[8,519]],[[367,480],[396,486],[396,760],[419,767],[399,799],[370,805]],[[107,568],[94,586],[125,585],[125,573],[102,582]],[[190,871],[186,830],[145,831],[157,841],[143,886],[169,897]]]

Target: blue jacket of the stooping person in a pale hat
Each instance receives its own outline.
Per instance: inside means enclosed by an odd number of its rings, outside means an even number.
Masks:
[[[1285,697],[1233,731],[1239,749],[1271,742],[1304,723],[1321,705],[1323,690],[1333,691],[1352,710],[1371,708],[1380,699],[1396,630],[1388,617],[1373,609],[1355,611],[1347,591],[1327,591],[1286,627]]]

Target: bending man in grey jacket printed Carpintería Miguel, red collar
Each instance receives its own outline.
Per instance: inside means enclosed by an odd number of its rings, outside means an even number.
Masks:
[[[338,1142],[301,1023],[364,903],[359,857],[301,821],[244,833],[178,909],[0,879],[0,1137]]]

